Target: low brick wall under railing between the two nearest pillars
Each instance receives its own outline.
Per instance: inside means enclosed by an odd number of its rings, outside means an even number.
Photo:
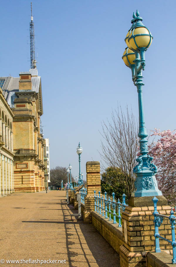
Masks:
[[[113,249],[119,253],[120,246],[123,244],[123,232],[122,227],[118,227],[118,223],[113,224],[112,221],[105,219],[97,212],[92,212],[92,224],[99,231],[99,233],[108,241],[108,243],[113,247]]]

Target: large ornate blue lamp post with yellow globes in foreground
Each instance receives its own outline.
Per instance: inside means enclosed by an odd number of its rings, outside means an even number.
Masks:
[[[139,133],[140,153],[136,161],[138,165],[133,168],[136,176],[135,189],[132,197],[161,196],[162,192],[158,189],[155,174],[157,167],[151,163],[152,157],[148,155],[147,131],[145,128],[143,112],[143,76],[142,70],[145,69],[145,52],[152,43],[153,36],[149,29],[142,23],[142,18],[137,10],[136,15],[133,13],[131,21],[132,26],[125,38],[127,48],[123,53],[122,59],[127,67],[131,69],[132,80],[137,87],[138,105],[139,105]]]

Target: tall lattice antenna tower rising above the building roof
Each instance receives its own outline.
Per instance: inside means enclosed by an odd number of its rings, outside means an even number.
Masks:
[[[35,32],[34,32],[34,23],[32,16],[32,2],[31,2],[31,22],[30,22],[30,45],[31,45],[31,69],[36,68],[35,60]]]

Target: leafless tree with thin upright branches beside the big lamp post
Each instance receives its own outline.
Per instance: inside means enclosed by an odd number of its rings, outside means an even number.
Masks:
[[[126,195],[130,198],[134,190],[135,176],[133,168],[136,165],[136,154],[138,150],[138,121],[133,112],[129,113],[126,107],[126,115],[118,105],[117,111],[112,111],[111,121],[103,121],[101,148],[101,159],[108,165],[120,168],[124,174],[122,183],[126,190]]]

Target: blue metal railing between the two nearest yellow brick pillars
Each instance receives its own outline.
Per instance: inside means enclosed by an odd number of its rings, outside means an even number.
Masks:
[[[96,195],[96,191],[94,190],[94,200],[95,200],[95,211],[97,213],[99,213],[100,215],[104,216],[104,211],[105,211],[105,219],[108,219],[109,218],[109,221],[112,221],[111,219],[111,214],[113,213],[113,224],[116,224],[116,206],[118,205],[118,218],[119,218],[119,227],[121,227],[121,215],[120,215],[120,211],[122,209],[122,211],[125,211],[125,208],[128,206],[125,202],[125,198],[126,198],[126,195],[123,194],[122,197],[123,197],[123,202],[121,203],[120,200],[118,199],[118,202],[115,201],[114,197],[115,197],[115,193],[113,192],[112,193],[112,197],[113,197],[113,200],[110,199],[107,199],[107,193],[104,192],[104,195],[105,197],[103,197],[103,195],[101,196],[100,195],[100,191],[98,192],[98,194]],[[113,209],[113,212],[111,210],[111,206],[112,206],[112,209]],[[109,208],[109,209],[108,209]],[[101,212],[102,210],[102,212]],[[109,217],[108,217],[108,212],[109,212]]]

